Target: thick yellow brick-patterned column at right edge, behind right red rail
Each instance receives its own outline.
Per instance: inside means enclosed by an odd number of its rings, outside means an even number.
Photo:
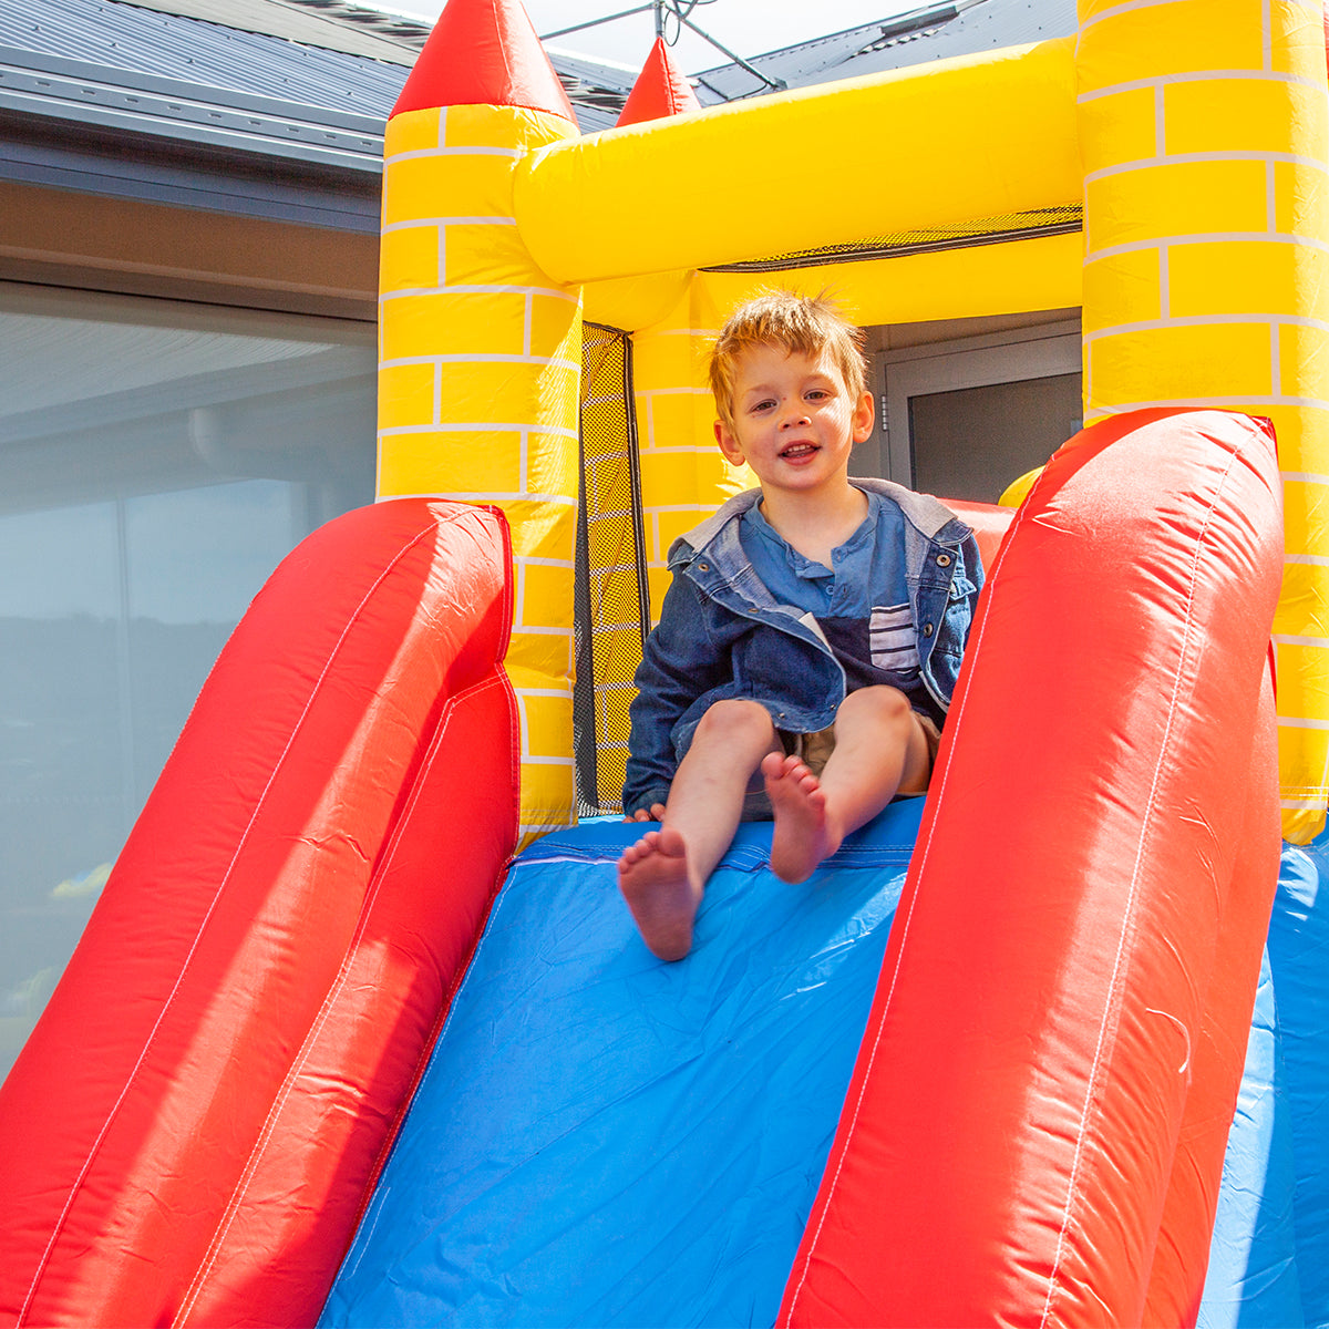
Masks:
[[[1284,835],[1329,792],[1329,215],[1321,5],[1080,0],[1086,421],[1272,417],[1288,565],[1275,625]]]

